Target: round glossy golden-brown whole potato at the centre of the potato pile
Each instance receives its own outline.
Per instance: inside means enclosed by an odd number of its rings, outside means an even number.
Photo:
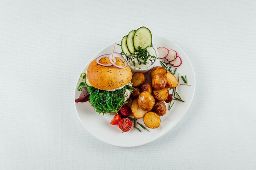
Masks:
[[[155,99],[148,91],[139,94],[137,103],[142,110],[151,110],[155,104]]]

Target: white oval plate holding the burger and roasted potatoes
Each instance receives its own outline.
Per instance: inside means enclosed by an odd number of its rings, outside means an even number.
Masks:
[[[121,44],[121,40],[118,40],[117,43]],[[166,40],[165,38],[153,36],[153,43],[156,47],[164,46],[167,49],[174,49],[175,51],[177,51],[178,56],[182,58],[182,65],[177,68],[175,76],[177,77],[178,73],[180,73],[180,76],[186,75],[188,83],[191,84],[191,86],[178,85],[176,88],[176,92],[180,94],[185,102],[183,103],[173,100],[175,101],[175,103],[170,111],[168,110],[168,104],[166,104],[167,112],[164,116],[161,117],[161,124],[158,128],[148,128],[150,130],[150,132],[148,132],[142,129],[136,123],[136,127],[140,128],[142,132],[137,131],[135,128],[131,128],[128,132],[124,133],[121,133],[121,130],[118,128],[117,125],[110,124],[110,121],[114,115],[103,116],[103,114],[97,113],[96,111],[94,111],[94,108],[89,104],[89,102],[75,103],[76,112],[81,123],[83,124],[85,129],[88,130],[88,132],[90,132],[94,137],[97,137],[101,141],[115,146],[140,146],[148,144],[149,142],[154,141],[155,139],[158,139],[159,137],[166,134],[185,115],[186,111],[189,108],[189,105],[191,104],[195,92],[195,73],[193,70],[193,66],[191,65],[191,62],[187,55],[182,51],[182,49],[180,49],[180,47],[178,47],[173,42]],[[114,42],[106,46],[106,48],[97,53],[92,58],[92,60],[100,55],[111,53],[113,45]],[[121,47],[117,45],[115,51],[120,53]],[[90,60],[90,62],[92,60]],[[87,70],[89,63],[85,66],[83,72]],[[159,61],[156,63],[156,66],[158,65],[160,66]],[[179,84],[184,84],[181,78]],[[78,98],[80,94],[80,91],[76,90],[77,86],[78,82],[75,86],[74,99]],[[172,93],[172,90],[170,90],[170,93]],[[138,119],[137,122],[144,125],[143,119]],[[134,124],[132,123],[132,126],[133,125]]]

